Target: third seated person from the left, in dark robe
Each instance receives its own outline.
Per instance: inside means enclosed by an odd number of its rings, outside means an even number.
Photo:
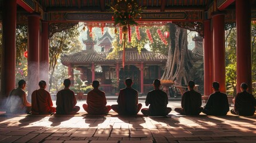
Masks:
[[[56,114],[76,114],[80,107],[76,106],[76,97],[74,91],[70,90],[70,79],[64,80],[65,88],[57,93]]]

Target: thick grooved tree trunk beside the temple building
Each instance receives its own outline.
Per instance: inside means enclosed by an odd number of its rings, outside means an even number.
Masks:
[[[190,80],[192,58],[187,47],[187,30],[170,24],[168,58],[161,80],[172,80],[178,85],[187,85]]]

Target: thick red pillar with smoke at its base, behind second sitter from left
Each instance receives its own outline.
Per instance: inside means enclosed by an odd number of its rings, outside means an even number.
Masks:
[[[39,22],[39,15],[28,16],[27,99],[29,101],[32,92],[39,88]]]

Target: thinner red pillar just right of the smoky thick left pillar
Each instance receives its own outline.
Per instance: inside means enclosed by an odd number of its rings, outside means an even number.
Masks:
[[[49,83],[49,32],[48,22],[42,21],[40,60],[39,60],[39,80]],[[47,86],[48,87],[48,86]],[[48,88],[47,88],[48,89]]]

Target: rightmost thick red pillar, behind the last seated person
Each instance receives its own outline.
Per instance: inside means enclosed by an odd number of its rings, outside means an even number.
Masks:
[[[251,4],[250,1],[236,0],[236,91],[240,92],[240,84],[248,84],[252,91],[251,61]]]

